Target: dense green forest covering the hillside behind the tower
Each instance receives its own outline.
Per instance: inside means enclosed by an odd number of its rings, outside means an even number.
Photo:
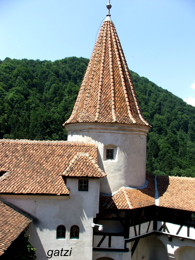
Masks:
[[[89,59],[0,60],[0,139],[66,140]],[[195,107],[131,71],[139,103],[152,126],[147,170],[195,177]]]

